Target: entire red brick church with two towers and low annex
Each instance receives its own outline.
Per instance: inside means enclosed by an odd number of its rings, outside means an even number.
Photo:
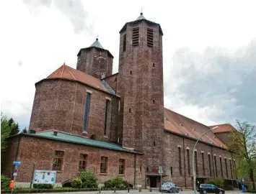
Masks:
[[[120,29],[118,73],[113,55],[99,40],[81,48],[76,69],[61,65],[35,83],[28,134],[9,138],[4,174],[22,161],[18,185],[30,185],[35,170],[56,170],[57,185],[89,170],[99,184],[121,176],[134,187],[156,188],[163,180],[193,185],[192,152],[200,134],[213,128],[164,108],[163,31],[141,15]],[[235,183],[234,156],[226,136],[235,130],[217,125],[195,150],[197,183],[221,176]]]

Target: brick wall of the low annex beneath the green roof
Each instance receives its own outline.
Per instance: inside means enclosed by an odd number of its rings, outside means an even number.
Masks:
[[[13,141],[17,142],[17,139],[13,139]],[[87,170],[97,175],[98,183],[104,183],[106,180],[118,175],[119,159],[125,160],[125,175],[123,178],[132,185],[134,183],[134,154],[37,137],[22,137],[20,141],[17,160],[22,161],[22,165],[19,166],[17,182],[31,181],[33,161],[36,162],[36,170],[52,170],[55,150],[64,152],[62,171],[57,172],[56,183],[63,183],[77,176],[79,171],[79,154],[88,154]],[[108,170],[105,175],[100,174],[100,159],[102,156],[108,157]],[[137,155],[138,161],[140,161],[139,158],[140,156]],[[140,164],[137,162],[137,165]],[[10,166],[6,166],[4,169],[6,172],[9,172],[9,168]],[[137,180],[141,182],[141,180]]]

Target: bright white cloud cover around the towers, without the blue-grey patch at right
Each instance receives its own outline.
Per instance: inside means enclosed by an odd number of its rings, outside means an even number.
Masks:
[[[91,45],[97,34],[102,46],[115,57],[116,73],[118,32],[125,22],[138,17],[141,6],[146,19],[161,24],[164,32],[164,103],[212,124],[204,114],[211,114],[213,107],[199,108],[178,95],[168,96],[168,91],[178,93],[185,80],[175,77],[177,64],[172,57],[181,47],[202,52],[209,46],[233,51],[247,45],[256,34],[255,1],[1,1],[1,110],[28,126],[34,83],[63,61],[75,68],[77,52]],[[180,70],[185,66],[183,63]]]

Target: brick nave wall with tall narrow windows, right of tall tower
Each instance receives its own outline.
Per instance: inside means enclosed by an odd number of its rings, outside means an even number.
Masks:
[[[167,175],[167,177],[164,177],[164,181],[172,181],[182,187],[185,186],[185,181],[186,181],[186,186],[192,187],[192,180],[193,180],[192,179],[193,177],[192,156],[193,156],[194,145],[195,145],[195,141],[191,139],[184,138],[184,144],[183,144],[183,137],[177,136],[175,134],[169,134],[167,132],[164,134],[165,154],[163,155],[164,157],[163,166],[164,166],[164,173],[166,173]],[[182,152],[182,157],[181,157],[182,158],[182,175],[180,175],[180,170],[179,170],[178,146],[181,147],[181,152]],[[188,166],[187,166],[187,148],[190,150],[190,175],[188,174]],[[228,165],[229,179],[231,179],[231,169],[229,165],[229,158],[231,158],[231,154],[228,151],[221,148],[212,147],[208,144],[203,144],[201,142],[198,142],[196,149],[198,152],[198,176],[199,177],[213,177],[213,175],[216,175],[216,173],[213,174],[213,168],[214,168],[214,172],[216,172],[213,154],[216,154],[218,175],[221,176],[221,165],[219,160],[219,156],[221,155],[224,178],[226,178],[226,167],[224,164],[224,157],[226,157],[228,159],[227,165]],[[185,151],[185,161],[184,161],[184,154],[183,154],[184,151]],[[203,175],[203,160],[201,155],[202,152],[204,152],[204,163],[205,163],[206,175]],[[212,176],[210,176],[208,153],[210,153],[211,155]],[[231,158],[231,160],[234,160],[234,159]],[[232,170],[234,170],[234,167],[233,167],[234,163],[231,162],[231,164],[232,164]],[[172,176],[170,175],[171,166],[172,166],[172,173],[173,173]],[[185,180],[185,177],[186,177],[186,180]]]

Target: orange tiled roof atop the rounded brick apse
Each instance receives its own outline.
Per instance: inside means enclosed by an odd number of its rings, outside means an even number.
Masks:
[[[60,68],[55,70],[52,74],[50,74],[46,79],[53,78],[63,78],[68,80],[76,80],[81,83],[85,83],[93,88],[97,88],[101,91],[105,91],[107,93],[111,93],[115,95],[115,91],[107,85],[107,83],[98,78],[94,78],[92,75],[88,75],[87,73],[81,72],[80,70],[76,70],[74,68],[69,67],[68,65],[61,65]]]

